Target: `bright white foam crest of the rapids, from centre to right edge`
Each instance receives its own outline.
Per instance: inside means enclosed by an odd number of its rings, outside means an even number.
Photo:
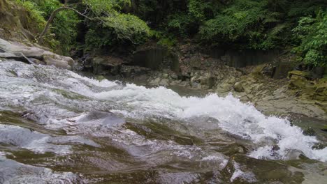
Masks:
[[[77,90],[75,92],[78,93]],[[259,146],[256,151],[249,153],[253,158],[286,160],[289,159],[291,150],[298,150],[308,158],[327,161],[327,148],[312,149],[319,142],[316,137],[305,136],[300,128],[292,126],[286,118],[265,116],[253,105],[242,103],[232,95],[225,98],[217,94],[210,94],[205,98],[187,98],[163,86],[147,89],[135,84],[126,84],[121,89],[100,93],[89,92],[89,97],[114,101],[126,107],[112,112],[122,113],[130,118],[155,116],[185,120],[208,116],[216,118],[224,130],[244,139],[251,139],[258,145],[266,139],[275,140],[278,150],[274,150],[273,145]]]

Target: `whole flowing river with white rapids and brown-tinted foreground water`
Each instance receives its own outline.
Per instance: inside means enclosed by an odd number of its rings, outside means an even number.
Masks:
[[[326,183],[324,141],[232,95],[0,61],[0,183]]]

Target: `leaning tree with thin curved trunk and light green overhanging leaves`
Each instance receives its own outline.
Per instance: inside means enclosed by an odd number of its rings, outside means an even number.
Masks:
[[[53,10],[43,31],[38,36],[38,43],[43,41],[45,34],[50,29],[50,25],[54,21],[57,14],[63,10],[71,10],[78,15],[85,17],[88,20],[99,21],[104,26],[115,29],[117,38],[131,40],[133,43],[134,35],[149,36],[150,28],[140,18],[131,15],[120,13],[124,6],[130,6],[129,0],[63,0],[61,7]],[[78,5],[85,7],[84,13],[81,13],[77,8]],[[89,16],[92,15],[92,16]]]

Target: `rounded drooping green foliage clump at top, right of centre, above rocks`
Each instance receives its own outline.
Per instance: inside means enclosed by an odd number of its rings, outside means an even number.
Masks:
[[[217,39],[222,43],[244,38],[256,40],[262,33],[261,27],[257,25],[267,13],[266,6],[267,1],[235,0],[231,6],[221,10],[221,13],[201,26],[201,38]]]

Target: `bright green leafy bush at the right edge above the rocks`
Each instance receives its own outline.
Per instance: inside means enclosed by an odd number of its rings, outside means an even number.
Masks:
[[[301,17],[293,29],[300,45],[294,50],[303,61],[314,66],[327,66],[327,11],[317,17]]]

